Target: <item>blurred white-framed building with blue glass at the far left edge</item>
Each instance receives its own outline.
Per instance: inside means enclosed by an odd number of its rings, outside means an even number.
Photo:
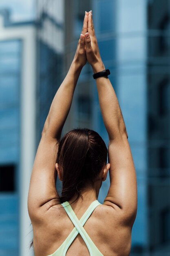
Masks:
[[[0,11],[0,255],[18,256],[30,225],[35,157],[35,25]],[[26,255],[21,253],[20,255]]]

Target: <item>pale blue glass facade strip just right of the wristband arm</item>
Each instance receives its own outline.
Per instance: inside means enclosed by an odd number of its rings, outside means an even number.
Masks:
[[[137,173],[138,209],[132,228],[131,255],[143,255],[148,250],[146,1],[115,2],[117,97]]]

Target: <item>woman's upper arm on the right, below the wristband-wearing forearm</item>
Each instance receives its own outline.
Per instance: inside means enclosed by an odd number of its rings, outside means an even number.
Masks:
[[[137,177],[126,133],[109,141],[110,188],[104,200],[120,209],[125,219],[135,221],[137,214]]]

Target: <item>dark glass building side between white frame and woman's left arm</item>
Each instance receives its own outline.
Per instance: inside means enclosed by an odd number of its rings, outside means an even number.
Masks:
[[[62,83],[64,9],[62,1],[37,0],[37,147],[55,93]],[[56,13],[60,13],[56,17]]]

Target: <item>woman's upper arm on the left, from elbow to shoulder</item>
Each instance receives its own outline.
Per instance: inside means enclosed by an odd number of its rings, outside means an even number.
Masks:
[[[56,189],[57,171],[55,161],[57,157],[57,140],[42,134],[35,156],[28,194],[28,211],[30,218],[34,218],[40,208],[48,210],[52,204],[60,204]],[[55,201],[55,202],[54,202]]]

